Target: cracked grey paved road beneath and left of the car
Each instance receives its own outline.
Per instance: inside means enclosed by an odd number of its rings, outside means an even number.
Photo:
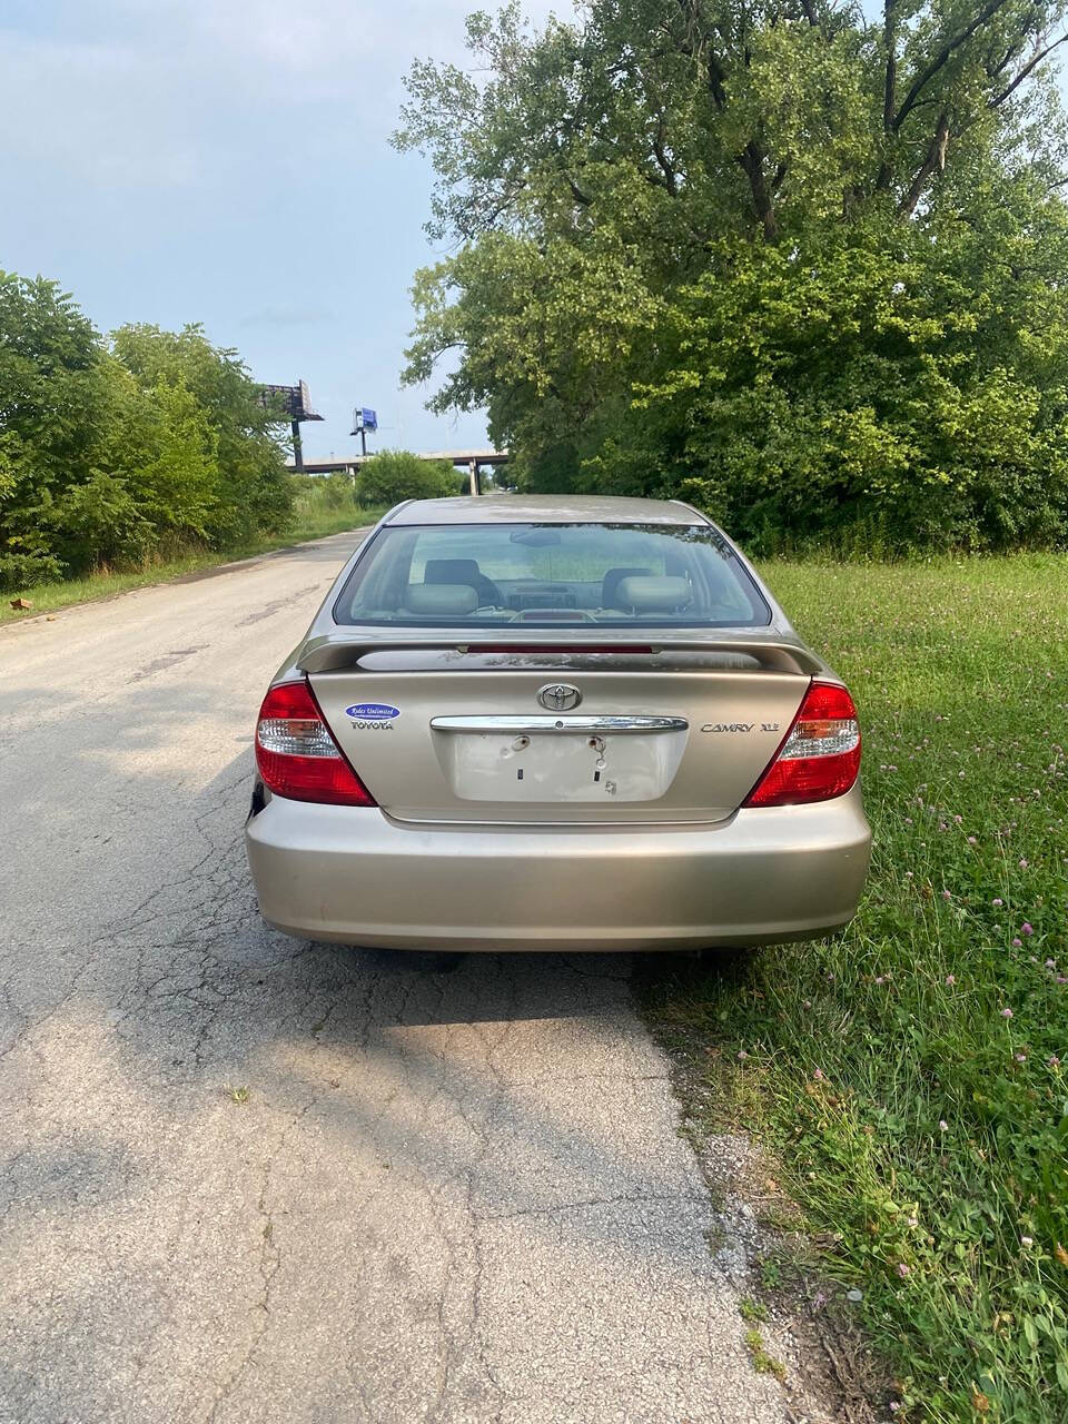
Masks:
[[[350,545],[0,629],[0,1420],[797,1418],[627,960],[259,923],[251,729]]]

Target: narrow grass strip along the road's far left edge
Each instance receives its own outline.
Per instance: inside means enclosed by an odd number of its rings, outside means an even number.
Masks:
[[[98,598],[111,598],[124,594],[131,588],[145,588],[150,584],[164,584],[168,578],[178,578],[182,574],[194,574],[202,568],[215,568],[219,564],[229,564],[239,558],[252,558],[255,554],[266,554],[273,548],[289,548],[293,544],[303,544],[308,540],[325,538],[328,534],[342,534],[346,530],[363,528],[375,524],[384,514],[383,510],[363,508],[300,508],[296,510],[293,524],[283,534],[265,534],[246,544],[236,545],[225,553],[202,551],[184,554],[179,558],[158,560],[147,562],[140,568],[105,570],[87,574],[84,578],[56,580],[47,584],[33,584],[0,595],[0,622],[14,622],[20,618],[34,618],[37,614],[56,612],[60,608],[70,608],[71,604],[93,602]],[[26,598],[33,608],[20,612],[11,608],[13,598]]]

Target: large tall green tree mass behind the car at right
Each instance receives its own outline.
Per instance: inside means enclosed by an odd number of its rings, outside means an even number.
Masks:
[[[473,16],[396,138],[460,242],[407,379],[454,353],[433,407],[486,406],[534,488],[685,487],[769,544],[1064,537],[1064,9]]]

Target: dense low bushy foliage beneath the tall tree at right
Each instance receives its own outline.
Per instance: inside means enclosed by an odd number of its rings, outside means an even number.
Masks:
[[[645,467],[675,456],[679,493],[756,548],[1064,538],[1068,222],[1021,209],[1005,195],[937,242],[909,224],[731,249],[729,281],[681,293],[678,356],[635,402],[627,429],[658,416]]]

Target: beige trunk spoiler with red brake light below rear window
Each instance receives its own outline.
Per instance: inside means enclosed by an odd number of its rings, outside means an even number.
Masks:
[[[604,658],[625,658],[628,652],[624,651],[624,644],[627,639],[621,639],[617,629],[612,629],[612,651],[598,651],[597,644],[604,642],[604,632],[600,638],[577,638],[577,629],[568,627],[567,635],[561,635],[561,646],[554,648],[554,639],[545,637],[545,629],[538,628],[530,629],[530,637],[523,638],[515,635],[511,629],[508,632],[508,641],[514,645],[515,652],[504,654],[503,656],[521,656],[521,645],[528,644],[531,654],[544,654],[545,658],[553,658],[554,655],[564,658],[582,658],[582,656],[604,656]],[[637,631],[635,631],[637,632]],[[471,637],[468,629],[463,632],[441,632],[427,635],[423,629],[392,629],[389,632],[377,632],[370,629],[346,628],[345,632],[326,632],[318,637],[309,638],[300,648],[296,666],[305,674],[318,672],[367,672],[370,669],[360,669],[359,661],[365,654],[372,652],[457,652],[460,655],[478,655],[481,648],[488,652],[490,646],[500,644],[501,635],[500,629],[486,629],[486,635]],[[588,651],[585,651],[581,644],[590,642]],[[488,646],[487,646],[488,645]],[[649,671],[656,671],[654,659],[662,656],[671,656],[672,654],[743,654],[755,658],[762,664],[763,669],[772,672],[793,672],[799,676],[816,676],[826,675],[829,671],[826,664],[822,662],[805,644],[789,634],[782,634],[778,631],[763,631],[763,629],[739,629],[736,632],[725,634],[719,632],[715,637],[695,638],[692,634],[689,637],[678,635],[675,632],[661,632],[654,628],[642,628],[641,635],[634,639],[634,654],[632,656],[645,662],[648,659]],[[639,651],[641,649],[641,651]],[[459,671],[459,669],[454,669]],[[488,669],[487,669],[488,671]],[[503,665],[500,669],[493,671],[527,671],[508,668]],[[731,671],[731,669],[723,669]]]

